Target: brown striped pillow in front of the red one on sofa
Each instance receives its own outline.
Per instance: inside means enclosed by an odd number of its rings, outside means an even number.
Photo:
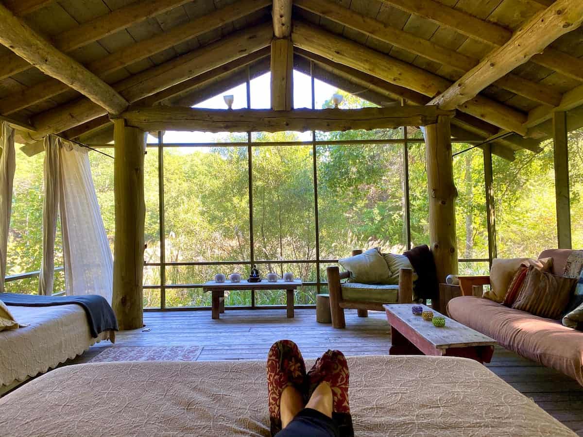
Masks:
[[[512,308],[546,319],[559,319],[573,293],[577,279],[554,276],[528,267],[526,278]]]

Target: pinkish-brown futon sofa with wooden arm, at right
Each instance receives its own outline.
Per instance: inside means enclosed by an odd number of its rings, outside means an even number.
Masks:
[[[568,249],[551,249],[543,251],[539,259],[553,258],[550,273],[567,276],[571,253]],[[462,296],[451,299],[447,305],[452,319],[492,337],[522,357],[571,376],[583,386],[583,332],[563,326],[560,320],[545,319],[473,296],[473,286],[489,284],[488,276],[460,279]]]

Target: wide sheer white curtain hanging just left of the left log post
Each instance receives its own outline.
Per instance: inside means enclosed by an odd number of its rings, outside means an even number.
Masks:
[[[87,149],[54,136],[50,138],[48,146],[58,154],[58,170],[51,168],[51,171],[58,175],[58,181],[56,177],[45,177],[45,180],[52,179],[58,191],[66,294],[99,294],[111,304],[113,258],[97,203]],[[52,216],[47,218],[52,220]],[[54,247],[54,237],[52,242]]]

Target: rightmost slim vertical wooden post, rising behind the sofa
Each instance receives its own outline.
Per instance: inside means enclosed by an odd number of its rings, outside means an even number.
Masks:
[[[565,112],[553,114],[553,139],[557,237],[560,249],[571,249],[571,200],[569,197],[567,114]]]

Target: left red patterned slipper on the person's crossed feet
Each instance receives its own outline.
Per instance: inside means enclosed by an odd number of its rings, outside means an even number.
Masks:
[[[282,429],[280,401],[282,392],[289,385],[305,393],[305,364],[297,344],[291,340],[273,343],[267,355],[267,392],[269,401],[269,425],[271,435]]]

